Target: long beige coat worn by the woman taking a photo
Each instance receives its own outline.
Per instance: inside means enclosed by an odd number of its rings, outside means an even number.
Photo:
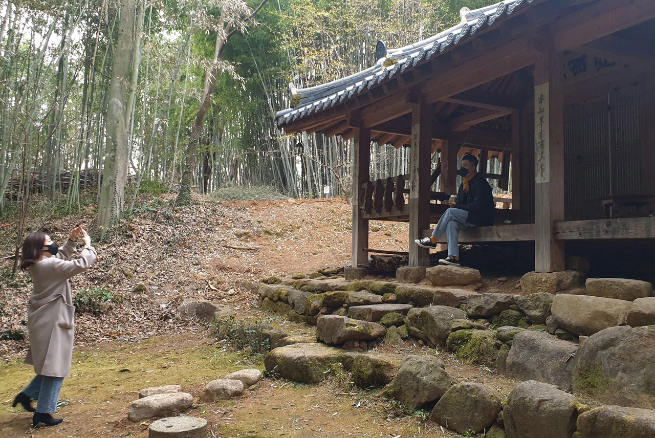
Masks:
[[[29,296],[29,351],[25,361],[43,376],[67,377],[71,371],[75,306],[68,279],[96,260],[92,246],[84,246],[80,255],[70,260],[75,253],[75,243],[69,240],[55,257],[44,257],[28,268],[34,289]]]

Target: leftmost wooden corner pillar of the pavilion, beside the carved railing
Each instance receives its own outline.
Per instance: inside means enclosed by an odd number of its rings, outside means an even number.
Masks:
[[[364,192],[362,184],[371,180],[371,130],[360,124],[354,128],[354,162],[352,165],[352,267],[368,263],[368,219],[362,219]]]

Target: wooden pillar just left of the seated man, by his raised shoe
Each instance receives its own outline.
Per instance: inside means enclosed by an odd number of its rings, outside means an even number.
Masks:
[[[431,110],[430,105],[419,99],[418,103],[413,103],[411,111],[409,266],[430,266],[430,250],[416,245],[414,240],[420,239],[421,231],[430,227]]]

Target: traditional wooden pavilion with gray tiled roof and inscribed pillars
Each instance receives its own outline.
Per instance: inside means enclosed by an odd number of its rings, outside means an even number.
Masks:
[[[371,219],[428,235],[464,152],[512,199],[461,243],[533,241],[536,271],[555,272],[567,242],[655,242],[655,1],[503,0],[460,18],[413,45],[379,42],[369,69],[291,86],[295,106],[276,114],[287,133],[354,139],[352,266],[367,263]],[[409,173],[371,181],[372,142],[409,147]],[[410,266],[429,262],[409,245]]]

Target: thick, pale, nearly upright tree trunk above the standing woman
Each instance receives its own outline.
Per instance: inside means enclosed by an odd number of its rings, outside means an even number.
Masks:
[[[102,187],[98,202],[100,239],[104,238],[119,217],[125,200],[128,170],[128,126],[125,107],[126,88],[134,50],[134,0],[121,0],[118,40],[113,50],[107,105],[107,139]]]

